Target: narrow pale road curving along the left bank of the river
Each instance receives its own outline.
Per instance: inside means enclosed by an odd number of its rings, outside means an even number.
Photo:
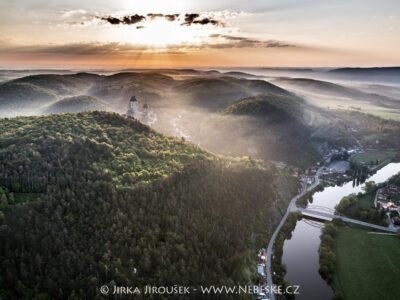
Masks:
[[[293,197],[292,200],[290,200],[285,214],[283,215],[281,221],[279,222],[279,224],[276,227],[274,233],[272,234],[271,239],[269,240],[268,247],[267,247],[267,262],[265,264],[265,269],[266,269],[266,273],[267,273],[267,286],[268,287],[271,287],[273,285],[271,259],[272,259],[272,255],[273,255],[273,249],[274,249],[274,243],[275,243],[276,237],[278,236],[278,233],[281,230],[283,224],[285,224],[289,213],[297,210],[297,206],[296,206],[297,199],[299,199],[306,192],[311,191],[312,189],[314,189],[316,186],[319,185],[319,175],[321,174],[321,172],[322,172],[322,167],[319,168],[317,173],[315,174],[314,184],[310,185],[307,188],[303,188],[303,191],[300,194],[298,194],[296,197]],[[275,300],[275,295],[273,293],[270,293],[268,296],[269,296],[270,300]]]

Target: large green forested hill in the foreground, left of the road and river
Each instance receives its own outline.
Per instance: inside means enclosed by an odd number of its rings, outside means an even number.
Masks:
[[[276,205],[296,188],[274,169],[117,114],[1,119],[0,128],[0,299],[250,283]]]

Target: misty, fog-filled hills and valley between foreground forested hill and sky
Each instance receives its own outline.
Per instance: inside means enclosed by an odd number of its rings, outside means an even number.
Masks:
[[[354,135],[363,129],[355,121],[365,118],[363,113],[400,119],[400,83],[393,77],[399,69],[42,72],[1,71],[2,117],[125,114],[135,96],[136,117],[159,132],[218,154],[299,166],[318,160],[327,147],[354,145]],[[355,73],[351,81],[349,73]],[[356,116],[351,122],[350,113]]]

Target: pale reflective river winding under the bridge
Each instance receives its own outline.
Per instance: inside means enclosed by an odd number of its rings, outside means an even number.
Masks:
[[[400,172],[400,163],[390,163],[378,170],[367,181],[381,183]],[[364,185],[353,187],[353,182],[343,186],[327,187],[314,194],[312,205],[334,209],[340,200],[351,193],[362,191]],[[319,275],[320,235],[323,223],[306,219],[297,222],[292,237],[283,245],[282,262],[286,265],[286,279],[292,285],[300,285],[298,300],[329,300],[332,289]]]

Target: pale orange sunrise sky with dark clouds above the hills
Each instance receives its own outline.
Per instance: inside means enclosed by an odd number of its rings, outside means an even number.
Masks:
[[[0,0],[0,68],[400,65],[398,0]]]

